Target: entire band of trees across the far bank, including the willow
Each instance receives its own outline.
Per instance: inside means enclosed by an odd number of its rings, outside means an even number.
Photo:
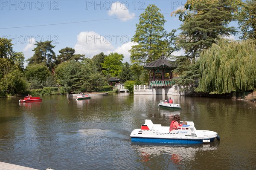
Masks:
[[[0,39],[0,96],[29,89],[60,85],[61,91],[95,91],[118,77],[131,91],[134,84],[148,84],[152,73],[145,63],[164,56],[176,62],[176,84],[186,92],[224,94],[256,88],[255,0],[187,0],[172,15],[182,21],[180,33],[166,30],[160,9],[151,4],[140,14],[132,41],[129,63],[122,54],[100,53],[93,58],[66,47],[54,52],[51,41],[36,42],[34,55],[23,67],[24,55],[14,52],[11,40]],[[239,28],[230,26],[238,22]],[[240,29],[240,31],[238,30]],[[238,35],[239,41],[225,37]],[[174,52],[183,49],[183,56]]]

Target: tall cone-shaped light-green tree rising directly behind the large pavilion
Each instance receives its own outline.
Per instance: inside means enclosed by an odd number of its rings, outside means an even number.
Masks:
[[[145,12],[140,14],[140,21],[136,24],[136,32],[132,41],[137,43],[131,47],[132,63],[147,63],[160,58],[163,53],[166,57],[172,52],[174,32],[168,33],[164,29],[166,20],[160,9],[149,5]]]

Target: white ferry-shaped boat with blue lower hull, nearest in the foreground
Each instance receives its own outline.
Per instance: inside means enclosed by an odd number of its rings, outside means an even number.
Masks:
[[[209,130],[196,130],[194,122],[187,121],[187,125],[178,127],[169,132],[170,127],[162,127],[161,124],[153,124],[146,119],[140,129],[131,132],[132,142],[169,143],[169,144],[197,144],[209,143],[220,140],[218,134]]]

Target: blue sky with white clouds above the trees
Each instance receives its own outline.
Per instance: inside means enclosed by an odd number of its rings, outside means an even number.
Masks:
[[[87,58],[104,52],[130,62],[131,38],[149,4],[156,5],[171,32],[182,24],[171,13],[186,0],[0,0],[0,37],[12,39],[15,52],[32,57],[36,41],[52,40],[54,52],[72,47]],[[178,33],[179,31],[177,31]],[[237,37],[233,37],[237,39]],[[176,52],[176,55],[182,51]]]

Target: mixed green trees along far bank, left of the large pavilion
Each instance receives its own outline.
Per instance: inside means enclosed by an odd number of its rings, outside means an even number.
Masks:
[[[122,82],[135,80],[137,69],[127,62],[123,55],[103,52],[85,58],[75,54],[75,49],[66,47],[55,56],[51,41],[37,42],[34,55],[27,60],[24,55],[14,52],[12,40],[0,38],[0,96],[24,94],[56,94],[110,89],[108,79],[118,77]],[[57,87],[56,87],[57,86]],[[61,86],[61,87],[59,87]],[[52,88],[52,92],[45,87]],[[44,90],[32,90],[44,89]],[[56,92],[58,89],[58,92]]]

